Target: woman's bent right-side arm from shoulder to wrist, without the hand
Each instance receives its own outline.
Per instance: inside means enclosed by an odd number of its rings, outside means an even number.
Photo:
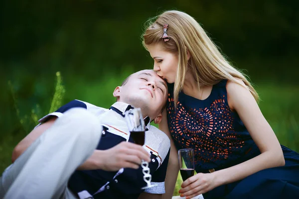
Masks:
[[[238,81],[244,85],[243,81]],[[220,185],[228,184],[263,169],[284,166],[285,159],[280,143],[249,90],[230,81],[226,88],[230,107],[238,112],[261,154],[239,165],[216,172],[216,180]]]

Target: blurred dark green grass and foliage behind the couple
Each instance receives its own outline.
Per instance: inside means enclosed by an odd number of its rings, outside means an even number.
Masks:
[[[129,74],[151,69],[143,24],[167,9],[196,18],[245,70],[279,141],[299,152],[299,1],[1,0],[0,173],[51,107],[78,99],[108,108]]]

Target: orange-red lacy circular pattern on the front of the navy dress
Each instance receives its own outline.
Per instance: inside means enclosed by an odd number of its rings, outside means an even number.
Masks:
[[[168,101],[173,103],[170,96]],[[173,113],[169,125],[173,139],[182,148],[194,149],[195,164],[226,159],[232,151],[244,146],[233,129],[234,118],[224,99],[214,100],[204,109],[187,109],[178,101],[176,113],[173,106],[167,111]]]

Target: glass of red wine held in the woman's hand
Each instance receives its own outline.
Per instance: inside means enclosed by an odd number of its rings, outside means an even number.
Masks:
[[[178,150],[179,171],[183,181],[194,175],[194,151],[193,149]]]

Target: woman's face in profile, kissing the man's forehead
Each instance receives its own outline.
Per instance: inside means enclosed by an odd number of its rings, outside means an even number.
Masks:
[[[153,70],[168,83],[174,83],[178,68],[178,56],[163,50],[161,44],[149,45],[147,48],[154,60]]]

